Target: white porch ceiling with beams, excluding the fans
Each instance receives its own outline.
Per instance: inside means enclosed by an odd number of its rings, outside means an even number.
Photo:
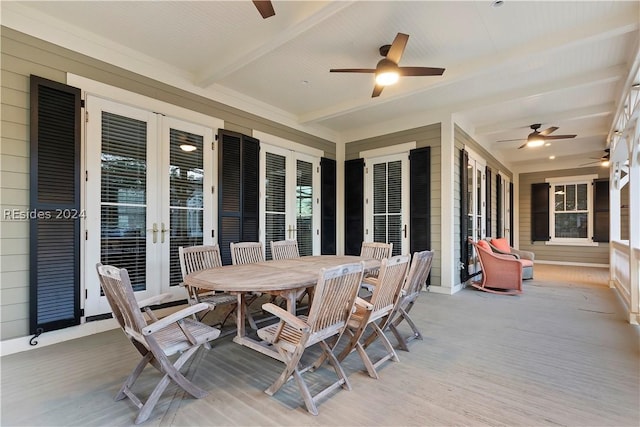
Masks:
[[[2,2],[2,24],[335,141],[455,114],[517,170],[600,157],[638,54],[637,1]],[[444,67],[371,98],[378,48],[410,35],[400,65]],[[578,135],[518,149],[530,132]],[[496,142],[522,138],[522,142]],[[556,159],[548,160],[550,155]],[[552,163],[554,162],[554,163]],[[535,166],[534,166],[535,165]]]

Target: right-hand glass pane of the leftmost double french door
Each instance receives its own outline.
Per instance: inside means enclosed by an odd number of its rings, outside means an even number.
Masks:
[[[182,281],[178,247],[201,245],[203,137],[189,132],[169,130],[169,275],[171,286]],[[170,236],[170,237],[169,237]],[[161,237],[162,238],[162,237]]]

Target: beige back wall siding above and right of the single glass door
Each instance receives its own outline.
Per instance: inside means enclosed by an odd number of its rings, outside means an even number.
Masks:
[[[440,199],[442,197],[440,191],[440,163],[442,157],[440,154],[440,124],[435,123],[402,132],[349,142],[345,145],[345,159],[357,159],[361,151],[391,147],[412,141],[416,141],[416,148],[431,147],[431,250],[435,251],[431,267],[431,284],[440,286],[442,271],[442,218],[440,214]]]

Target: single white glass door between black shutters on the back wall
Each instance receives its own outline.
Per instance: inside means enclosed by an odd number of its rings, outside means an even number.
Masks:
[[[365,159],[367,242],[393,243],[393,255],[409,253],[409,158],[406,153]]]

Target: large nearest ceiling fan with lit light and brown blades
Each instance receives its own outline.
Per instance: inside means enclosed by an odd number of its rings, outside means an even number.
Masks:
[[[397,82],[400,76],[441,76],[444,68],[398,66],[408,40],[409,35],[398,33],[393,43],[381,46],[379,52],[383,58],[378,61],[376,68],[332,68],[329,72],[375,74],[376,84],[371,94],[372,98],[380,96],[382,89]]]

